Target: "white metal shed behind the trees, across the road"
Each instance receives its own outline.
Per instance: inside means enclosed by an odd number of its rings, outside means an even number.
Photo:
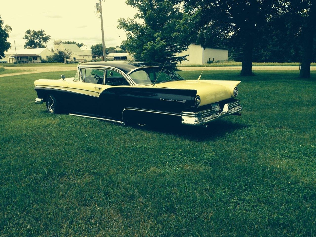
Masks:
[[[187,61],[182,61],[178,66],[205,64],[208,61],[228,60],[228,48],[214,46],[212,48],[203,49],[202,46],[190,44],[186,51],[179,53],[177,56],[185,56]]]

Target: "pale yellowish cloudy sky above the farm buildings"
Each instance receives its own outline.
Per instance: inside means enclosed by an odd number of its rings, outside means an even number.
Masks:
[[[45,30],[51,40],[48,49],[54,48],[54,39],[76,41],[88,47],[102,43],[100,18],[95,15],[95,3],[98,0],[15,0],[0,3],[0,15],[3,25],[12,27],[8,41],[14,52],[23,49],[25,31]],[[137,9],[125,4],[125,0],[102,1],[103,26],[106,47],[119,46],[126,39],[126,33],[118,29],[119,18],[132,18]]]

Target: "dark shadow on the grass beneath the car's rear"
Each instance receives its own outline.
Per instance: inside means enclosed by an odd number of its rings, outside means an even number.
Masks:
[[[191,141],[212,141],[227,134],[248,127],[246,124],[233,123],[226,120],[217,120],[208,124],[207,127],[188,126],[182,124],[149,124],[146,126],[130,125],[135,129],[162,132],[176,135]]]

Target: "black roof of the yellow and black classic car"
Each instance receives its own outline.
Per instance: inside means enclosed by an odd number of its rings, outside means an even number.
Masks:
[[[150,63],[150,62],[107,61],[107,62],[83,63],[83,64],[80,64],[79,67],[89,66],[89,65],[101,66],[101,67],[102,66],[115,67],[115,68],[118,68],[119,70],[122,70],[125,73],[128,73],[135,68],[163,66],[163,64],[160,64],[160,63]]]

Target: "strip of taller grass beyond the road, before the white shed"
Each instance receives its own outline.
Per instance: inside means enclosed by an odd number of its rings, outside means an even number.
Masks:
[[[252,66],[299,66],[299,63],[252,63]],[[234,61],[220,61],[213,64],[191,64],[183,65],[183,67],[233,67],[240,66],[241,62]],[[311,66],[316,66],[316,63],[311,63]]]

